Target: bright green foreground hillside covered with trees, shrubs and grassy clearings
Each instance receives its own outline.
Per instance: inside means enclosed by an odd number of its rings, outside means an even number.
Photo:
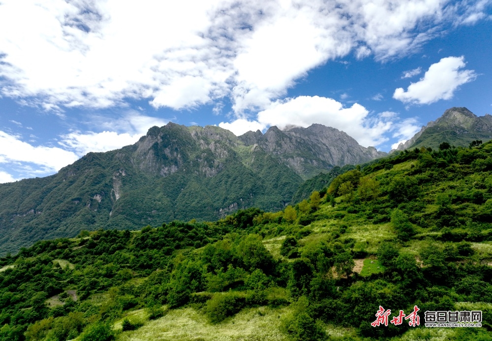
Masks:
[[[491,340],[479,142],[376,160],[278,212],[38,241],[0,259],[0,340]],[[371,325],[416,306],[419,325]],[[424,326],[457,310],[482,327]]]

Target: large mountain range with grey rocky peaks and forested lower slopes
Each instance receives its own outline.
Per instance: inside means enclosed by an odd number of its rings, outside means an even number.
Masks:
[[[310,174],[379,155],[321,125],[240,137],[214,126],[153,127],[133,145],[89,153],[55,175],[0,184],[0,254],[82,229],[283,209]]]

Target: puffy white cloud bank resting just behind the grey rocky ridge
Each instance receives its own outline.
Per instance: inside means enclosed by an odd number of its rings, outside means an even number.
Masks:
[[[393,112],[369,115],[369,111],[358,103],[344,107],[331,98],[300,96],[272,103],[258,113],[255,121],[238,119],[231,123],[222,122],[219,126],[241,135],[249,130],[264,130],[271,126],[285,129],[292,125],[308,127],[320,123],[347,133],[361,145],[377,146],[388,140],[384,134],[393,129],[393,121],[396,120],[397,114]]]

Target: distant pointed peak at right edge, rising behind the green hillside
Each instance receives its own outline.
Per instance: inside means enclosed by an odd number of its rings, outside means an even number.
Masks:
[[[453,107],[444,114],[423,126],[405,143],[400,143],[396,150],[415,147],[438,148],[441,142],[455,146],[467,147],[474,140],[483,142],[492,139],[492,116],[476,116],[465,107]]]

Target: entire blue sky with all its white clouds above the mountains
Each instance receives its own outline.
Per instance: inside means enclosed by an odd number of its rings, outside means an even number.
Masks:
[[[492,111],[491,19],[491,0],[1,0],[0,182],[169,121],[389,151],[452,106]]]

